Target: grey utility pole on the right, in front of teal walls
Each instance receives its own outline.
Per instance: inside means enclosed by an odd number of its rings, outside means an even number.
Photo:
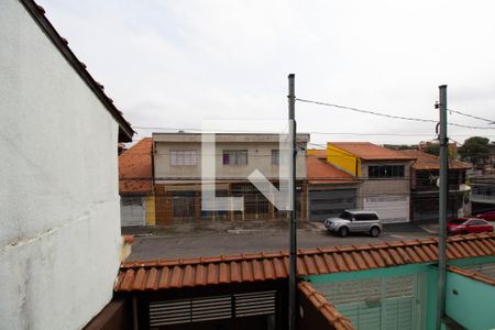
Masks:
[[[439,202],[439,242],[438,242],[438,296],[437,330],[440,330],[446,316],[446,250],[447,250],[447,202],[449,200],[449,139],[447,138],[447,85],[439,86],[440,91],[440,202]]]

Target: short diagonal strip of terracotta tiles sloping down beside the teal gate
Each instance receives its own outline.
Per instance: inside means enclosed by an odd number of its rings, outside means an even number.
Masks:
[[[336,330],[352,330],[354,327],[348,318],[343,317],[336,307],[330,304],[323,295],[316,290],[308,282],[300,282],[298,284],[299,292],[308,297],[308,300],[320,311],[320,314],[328,320],[328,323]]]

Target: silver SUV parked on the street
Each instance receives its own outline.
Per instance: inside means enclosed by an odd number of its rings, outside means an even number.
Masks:
[[[362,210],[345,210],[337,218],[324,220],[328,231],[337,232],[345,238],[352,232],[367,232],[376,238],[382,232],[382,221],[376,212]]]

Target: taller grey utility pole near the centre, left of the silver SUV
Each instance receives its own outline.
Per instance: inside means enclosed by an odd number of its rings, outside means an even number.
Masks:
[[[289,162],[289,196],[290,196],[290,224],[289,224],[289,289],[288,289],[288,304],[289,304],[289,330],[296,330],[297,322],[297,296],[296,296],[296,274],[297,274],[297,234],[296,234],[296,95],[295,95],[295,75],[288,75],[288,119],[289,119],[289,140],[290,140],[290,162]]]

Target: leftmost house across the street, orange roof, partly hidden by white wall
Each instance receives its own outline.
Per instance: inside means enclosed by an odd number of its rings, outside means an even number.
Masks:
[[[119,193],[122,227],[155,224],[151,138],[119,156]]]

